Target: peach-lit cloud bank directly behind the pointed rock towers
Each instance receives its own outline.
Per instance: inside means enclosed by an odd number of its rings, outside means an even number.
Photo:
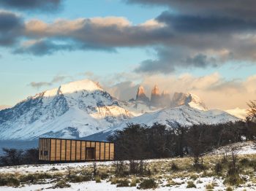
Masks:
[[[246,108],[246,102],[255,99],[256,76],[247,79],[225,79],[219,73],[213,73],[202,77],[191,74],[164,75],[151,74],[140,77],[140,82],[123,81],[116,85],[105,87],[114,97],[121,100],[135,98],[138,85],[143,85],[146,95],[150,97],[154,85],[158,85],[160,91],[167,90],[171,96],[175,92],[195,93],[206,103],[210,109]],[[99,81],[102,82],[102,81]]]

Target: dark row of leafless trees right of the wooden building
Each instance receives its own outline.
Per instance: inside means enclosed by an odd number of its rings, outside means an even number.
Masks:
[[[108,137],[108,141],[116,143],[117,160],[195,155],[195,163],[198,163],[201,154],[211,149],[255,139],[256,123],[251,120],[192,125],[189,128],[181,125],[168,128],[159,123],[151,127],[128,124],[124,130],[117,130]]]

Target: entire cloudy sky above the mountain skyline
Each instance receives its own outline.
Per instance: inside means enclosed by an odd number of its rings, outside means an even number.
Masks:
[[[0,106],[79,79],[211,109],[256,99],[255,0],[0,0]]]

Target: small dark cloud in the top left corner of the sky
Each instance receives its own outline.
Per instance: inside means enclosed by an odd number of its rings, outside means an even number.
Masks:
[[[26,11],[54,12],[63,0],[0,0],[0,7]]]

